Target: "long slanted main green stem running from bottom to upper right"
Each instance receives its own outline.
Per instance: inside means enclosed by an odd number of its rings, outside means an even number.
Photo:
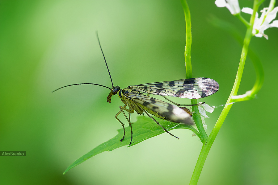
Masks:
[[[249,46],[249,43],[250,43],[250,40],[251,40],[251,37],[253,36],[252,35],[252,29],[253,29],[253,25],[254,25],[254,20],[255,20],[255,13],[257,12],[259,6],[258,6],[258,0],[255,0],[254,1],[254,5],[253,5],[253,14],[251,16],[251,19],[250,19],[250,27],[247,28],[247,31],[246,31],[246,35],[245,35],[245,38],[244,38],[244,42],[243,42],[243,48],[242,48],[242,53],[241,53],[241,57],[240,57],[240,61],[239,61],[239,66],[238,66],[238,72],[237,72],[237,75],[236,75],[236,79],[235,79],[235,82],[234,82],[234,86],[232,88],[232,91],[230,93],[230,96],[227,100],[227,103],[226,105],[224,106],[224,109],[222,110],[212,132],[210,133],[210,135],[208,136],[208,139],[206,140],[205,143],[203,143],[203,146],[202,146],[202,149],[201,149],[201,152],[200,152],[200,155],[199,155],[199,158],[197,160],[197,163],[196,163],[196,166],[195,166],[195,169],[194,169],[194,172],[192,174],[192,178],[191,178],[191,181],[189,184],[197,184],[198,180],[199,180],[199,177],[200,177],[200,174],[201,174],[201,171],[202,171],[202,168],[204,166],[204,162],[208,156],[208,152],[225,120],[225,118],[227,117],[227,114],[229,113],[231,107],[233,104],[231,104],[232,102],[232,97],[234,95],[237,94],[238,92],[238,88],[239,88],[239,84],[240,84],[240,81],[241,81],[241,78],[242,78],[242,73],[243,73],[243,69],[244,69],[244,64],[245,64],[245,60],[246,60],[246,55],[247,55],[247,51],[248,51],[248,46]]]

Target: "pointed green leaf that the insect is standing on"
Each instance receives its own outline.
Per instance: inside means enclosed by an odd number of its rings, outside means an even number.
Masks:
[[[178,128],[189,129],[189,130],[192,130],[197,136],[199,136],[198,131],[190,125],[180,124],[180,123],[172,123],[172,122],[161,120],[161,119],[159,119],[158,122],[166,130],[173,130],[173,129],[178,129]],[[130,146],[136,145],[146,139],[149,139],[149,138],[152,138],[159,134],[165,133],[165,131],[159,125],[156,125],[152,119],[150,119],[149,117],[145,117],[145,116],[137,117],[137,121],[132,124],[132,130],[133,130],[133,139],[132,139],[132,143]],[[120,148],[122,146],[129,145],[130,138],[131,138],[131,132],[130,132],[129,126],[125,127],[125,137],[122,142],[120,142],[120,140],[123,138],[124,130],[119,129],[117,131],[119,133],[114,138],[108,140],[107,142],[100,144],[99,146],[95,147],[93,150],[91,150],[87,154],[83,155],[82,157],[80,157],[79,159],[74,161],[65,170],[65,172],[63,174],[65,174],[67,171],[69,171],[71,168],[77,166],[78,164],[81,164],[82,162],[86,161],[87,159],[95,156],[96,154],[100,154],[104,151],[112,151],[116,148]],[[169,137],[171,137],[171,136],[169,135]]]

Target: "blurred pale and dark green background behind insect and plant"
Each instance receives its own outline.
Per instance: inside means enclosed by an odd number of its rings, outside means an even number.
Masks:
[[[240,6],[252,3],[240,1]],[[216,80],[219,91],[203,101],[225,104],[241,46],[208,20],[215,16],[232,23],[242,37],[246,28],[214,1],[188,5],[193,77]],[[117,134],[122,126],[115,114],[123,104],[116,97],[107,103],[109,90],[93,85],[52,93],[74,83],[111,86],[96,30],[114,85],[185,78],[180,1],[0,1],[0,6],[0,146],[27,151],[26,157],[0,158],[1,184],[189,183],[202,145],[184,129],[172,131],[179,140],[161,134],[96,155],[62,175],[74,160]],[[249,20],[250,15],[242,15]],[[254,100],[233,105],[199,184],[278,184],[277,28],[265,34],[269,40],[253,37],[250,43],[263,63],[263,88]],[[238,94],[254,82],[254,67],[247,58]],[[221,110],[208,115],[208,134]]]

